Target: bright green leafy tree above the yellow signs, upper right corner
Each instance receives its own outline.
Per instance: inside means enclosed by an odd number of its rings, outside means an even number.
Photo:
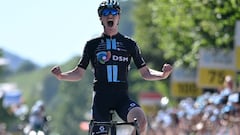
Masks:
[[[196,67],[200,47],[233,48],[234,25],[240,19],[239,0],[135,2],[135,37],[147,57],[163,56]]]

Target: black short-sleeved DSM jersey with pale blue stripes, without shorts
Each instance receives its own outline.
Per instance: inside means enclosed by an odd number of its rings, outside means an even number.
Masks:
[[[120,33],[102,34],[88,41],[78,67],[94,69],[94,90],[127,90],[131,58],[139,69],[145,66],[136,42]]]

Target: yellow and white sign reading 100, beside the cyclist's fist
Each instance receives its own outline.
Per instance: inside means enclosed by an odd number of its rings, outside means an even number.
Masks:
[[[202,89],[196,85],[196,70],[178,67],[171,75],[171,94],[174,97],[196,97]]]

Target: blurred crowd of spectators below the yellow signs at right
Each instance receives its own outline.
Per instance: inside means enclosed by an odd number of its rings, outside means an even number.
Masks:
[[[240,92],[226,76],[222,89],[159,110],[150,125],[153,135],[240,135]]]

